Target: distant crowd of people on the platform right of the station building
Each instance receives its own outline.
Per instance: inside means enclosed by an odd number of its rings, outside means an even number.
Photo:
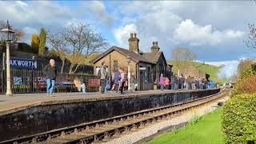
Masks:
[[[183,74],[181,76],[174,74],[170,79],[161,74],[158,85],[161,90],[206,90],[217,86],[214,82],[205,78],[194,78],[190,76],[185,78]]]

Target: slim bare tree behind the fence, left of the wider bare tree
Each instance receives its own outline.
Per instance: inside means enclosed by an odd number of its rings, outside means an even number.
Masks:
[[[62,37],[62,32],[50,33],[46,37],[47,42],[50,44],[54,54],[58,55],[58,57],[62,60],[62,70],[65,66],[65,60],[70,54],[70,50],[67,48],[66,41]]]

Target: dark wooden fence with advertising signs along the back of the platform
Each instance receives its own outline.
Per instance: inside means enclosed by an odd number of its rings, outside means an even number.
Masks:
[[[11,89],[14,94],[24,93],[45,93],[46,78],[42,74],[42,70],[10,70]],[[78,91],[73,84],[74,77],[78,77],[86,84],[86,91],[98,91],[96,86],[88,86],[89,79],[97,79],[94,75],[87,74],[58,74],[56,78],[56,92],[74,92]],[[6,93],[6,71],[0,69],[0,93]]]

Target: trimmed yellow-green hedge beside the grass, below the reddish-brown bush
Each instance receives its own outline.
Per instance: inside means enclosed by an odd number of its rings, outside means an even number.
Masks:
[[[237,94],[226,102],[222,130],[226,143],[256,142],[256,93]]]

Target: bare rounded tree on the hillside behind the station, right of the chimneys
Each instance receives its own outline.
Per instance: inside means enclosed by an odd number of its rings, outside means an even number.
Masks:
[[[196,54],[188,48],[177,47],[171,51],[171,57],[174,59],[174,63],[178,69],[184,70],[188,62],[193,61],[196,58]]]

